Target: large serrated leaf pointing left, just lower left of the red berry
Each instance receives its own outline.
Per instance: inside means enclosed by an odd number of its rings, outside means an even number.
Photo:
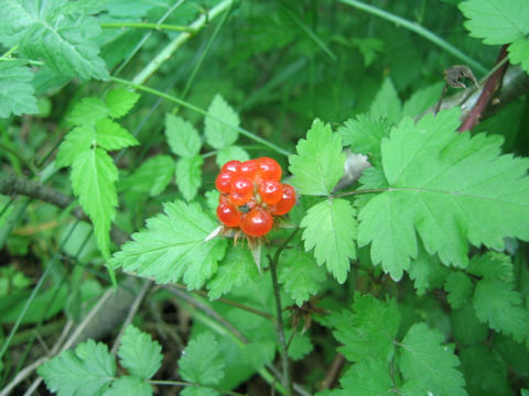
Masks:
[[[110,265],[158,283],[184,278],[188,289],[201,288],[217,271],[226,240],[204,242],[218,226],[198,204],[175,201],[164,205],[165,215],[147,220],[147,230],[132,234]]]

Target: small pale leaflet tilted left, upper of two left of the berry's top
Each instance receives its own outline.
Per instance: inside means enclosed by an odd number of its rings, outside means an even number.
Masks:
[[[165,136],[171,151],[181,157],[193,157],[201,151],[202,140],[198,132],[177,116],[165,114]]]

